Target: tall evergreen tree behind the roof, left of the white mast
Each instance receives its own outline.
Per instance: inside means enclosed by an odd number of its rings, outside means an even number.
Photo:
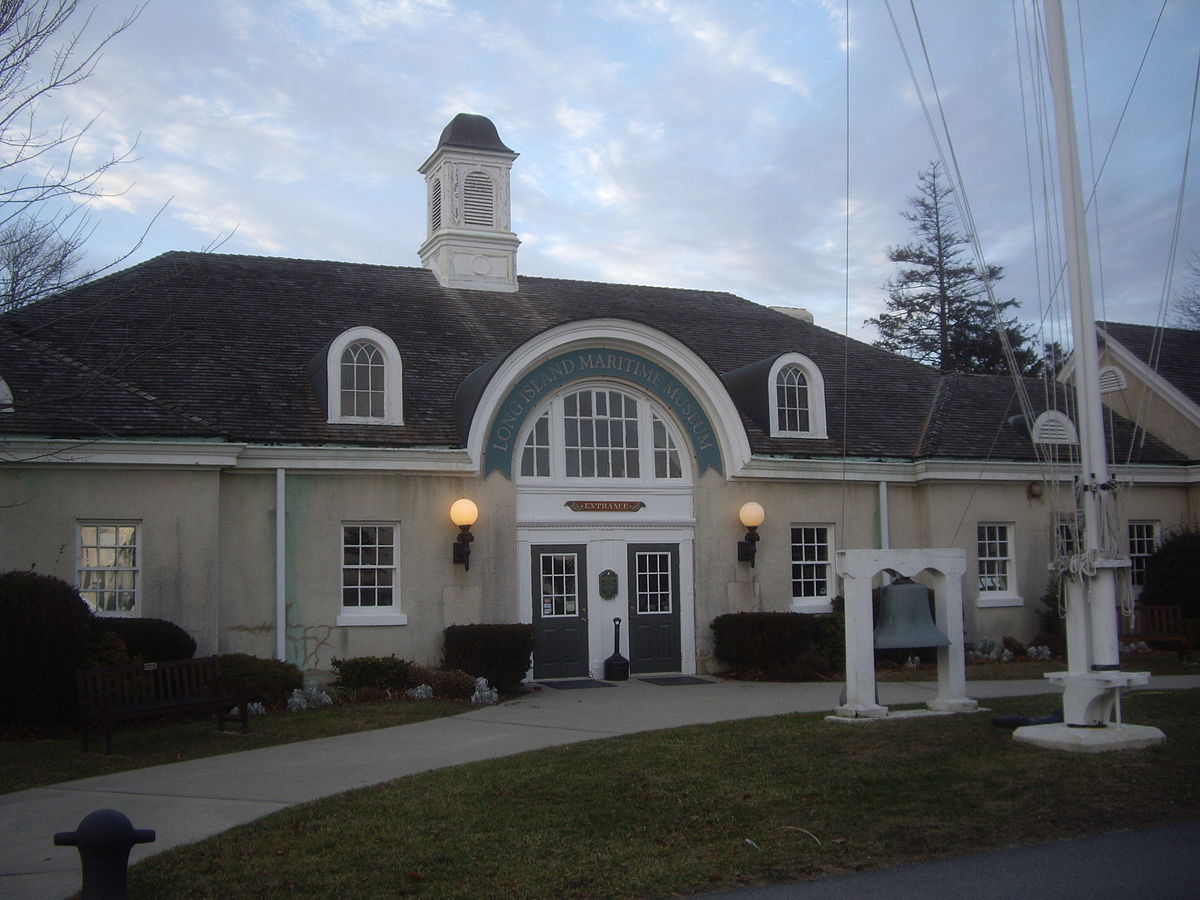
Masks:
[[[887,312],[868,319],[878,329],[876,347],[901,353],[943,372],[1008,371],[998,331],[1008,336],[1021,372],[1040,366],[1038,353],[1016,317],[1003,318],[1018,306],[1006,300],[994,308],[984,276],[967,257],[967,240],[958,232],[959,218],[952,202],[953,187],[941,166],[930,163],[917,175],[911,210],[901,212],[912,223],[916,241],[888,248],[888,258],[900,270],[883,286]],[[1003,272],[988,266],[986,278],[996,282]]]

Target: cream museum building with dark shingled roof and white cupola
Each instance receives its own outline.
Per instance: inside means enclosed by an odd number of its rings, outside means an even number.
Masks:
[[[528,622],[550,678],[599,674],[614,618],[632,672],[713,671],[716,616],[828,611],[839,550],[962,547],[968,640],[1032,636],[1072,540],[1062,391],[1026,383],[1014,427],[1007,377],[725,293],[518,276],[515,158],[446,126],[424,268],[166,253],[0,318],[0,569],[306,670]],[[1135,556],[1194,517],[1200,456],[1195,371],[1128,406],[1153,334],[1105,337]]]

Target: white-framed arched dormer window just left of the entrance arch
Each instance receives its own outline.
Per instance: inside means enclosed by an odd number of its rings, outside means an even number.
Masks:
[[[395,341],[360,325],[330,343],[325,358],[331,424],[403,425],[403,370]]]

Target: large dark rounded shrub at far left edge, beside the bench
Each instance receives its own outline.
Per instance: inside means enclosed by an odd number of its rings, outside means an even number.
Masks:
[[[74,671],[91,644],[79,592],[36,572],[0,575],[0,720],[43,725],[76,718]]]

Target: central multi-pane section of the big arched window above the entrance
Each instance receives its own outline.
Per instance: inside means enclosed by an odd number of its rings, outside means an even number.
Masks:
[[[638,478],[637,401],[614,390],[563,398],[568,478]]]

